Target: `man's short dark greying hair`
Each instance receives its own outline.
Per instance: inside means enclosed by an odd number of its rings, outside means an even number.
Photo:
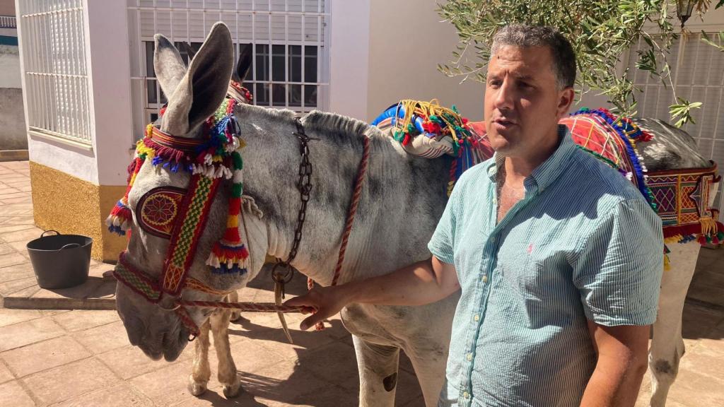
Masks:
[[[506,25],[493,37],[490,56],[492,57],[501,46],[506,45],[520,48],[548,47],[553,57],[552,69],[558,87],[570,88],[576,82],[576,54],[573,52],[573,46],[555,28],[523,24]]]

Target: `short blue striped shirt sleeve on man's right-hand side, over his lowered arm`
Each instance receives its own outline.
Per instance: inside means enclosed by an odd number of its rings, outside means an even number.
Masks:
[[[620,201],[603,215],[573,264],[586,318],[606,326],[653,324],[663,244],[661,220],[646,201]]]

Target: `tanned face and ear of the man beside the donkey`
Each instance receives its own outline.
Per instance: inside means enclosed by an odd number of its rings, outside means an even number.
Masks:
[[[488,64],[485,122],[495,151],[526,157],[550,146],[557,122],[573,99],[558,88],[546,47],[500,46]]]

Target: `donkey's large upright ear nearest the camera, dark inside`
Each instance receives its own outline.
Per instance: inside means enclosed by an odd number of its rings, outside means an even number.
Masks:
[[[169,98],[161,130],[171,135],[193,137],[189,133],[224,101],[233,67],[231,33],[223,22],[217,22]]]

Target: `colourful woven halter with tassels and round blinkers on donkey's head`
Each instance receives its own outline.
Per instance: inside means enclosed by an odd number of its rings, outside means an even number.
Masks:
[[[128,168],[126,193],[106,219],[111,232],[119,235],[130,232],[132,212],[128,206],[128,194],[145,161],[150,160],[154,167],[191,175],[188,190],[153,188],[140,198],[136,206],[138,225],[152,235],[170,240],[164,268],[159,281],[154,282],[148,275],[131,267],[125,261],[125,253],[121,253],[121,267],[117,267],[114,274],[117,280],[148,301],[161,303],[164,294],[173,301],[185,287],[223,294],[188,279],[198,239],[206,226],[211,204],[222,180],[232,180],[227,229],[222,239],[214,244],[206,264],[215,273],[243,274],[247,271],[245,260],[249,253],[239,233],[243,161],[238,150],[245,143],[238,138],[238,125],[233,115],[237,103],[234,98],[226,98],[222,102],[214,115],[203,123],[203,138],[174,137],[149,124],[146,137],[136,144],[136,156]],[[164,111],[161,109],[161,114]],[[175,306],[179,309],[178,305]],[[185,310],[179,311],[182,321],[192,332],[198,332]]]

